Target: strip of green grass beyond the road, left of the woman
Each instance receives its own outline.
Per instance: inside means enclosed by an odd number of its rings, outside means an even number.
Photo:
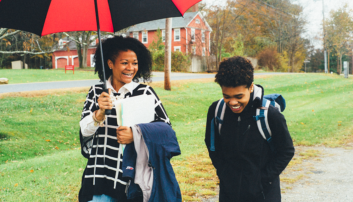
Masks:
[[[98,75],[94,71],[80,71],[65,69],[0,69],[0,78],[8,78],[9,84],[14,83],[33,83],[33,82],[46,82],[46,81],[73,81],[85,79],[98,79]]]

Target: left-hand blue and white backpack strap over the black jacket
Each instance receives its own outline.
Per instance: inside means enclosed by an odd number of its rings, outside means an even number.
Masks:
[[[225,102],[220,99],[215,110],[215,117],[211,121],[211,145],[210,150],[215,151],[215,126],[217,126],[219,133],[221,133],[221,126],[223,124],[224,112],[226,110]]]

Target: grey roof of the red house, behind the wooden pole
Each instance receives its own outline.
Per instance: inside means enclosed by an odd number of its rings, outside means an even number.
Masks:
[[[199,16],[203,18],[201,13],[199,12],[186,12],[184,14],[184,17],[175,17],[172,20],[172,29],[174,28],[183,28],[189,25],[189,23],[199,14]],[[204,20],[205,21],[205,20]],[[208,26],[207,22],[205,22],[206,26],[208,29],[211,30],[211,28]],[[134,31],[142,31],[142,30],[157,30],[157,29],[165,29],[166,28],[166,19],[159,19],[159,20],[153,20],[149,22],[144,22],[140,23],[137,25],[131,26],[127,32],[134,32]]]

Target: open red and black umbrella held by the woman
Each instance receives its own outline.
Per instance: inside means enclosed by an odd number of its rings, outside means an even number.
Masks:
[[[138,23],[181,17],[199,1],[0,0],[0,28],[28,31],[38,36],[65,31],[98,31],[101,42],[100,31],[116,32]],[[101,58],[104,65],[103,55]]]

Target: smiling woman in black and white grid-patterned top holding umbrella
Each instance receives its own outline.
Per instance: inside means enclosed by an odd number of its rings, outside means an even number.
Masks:
[[[84,102],[80,142],[82,154],[88,162],[82,176],[80,202],[127,201],[129,184],[122,176],[123,155],[119,150],[122,144],[134,141],[133,132],[131,127],[118,125],[112,100],[154,95],[154,122],[161,121],[170,127],[167,113],[155,91],[148,85],[137,83],[140,78],[150,82],[152,62],[148,49],[135,38],[115,36],[102,41],[102,52],[109,93],[103,91],[103,84],[94,85]],[[95,72],[103,82],[99,46],[94,62]],[[112,110],[110,115],[105,114],[107,109]],[[142,194],[130,201],[142,201]]]

